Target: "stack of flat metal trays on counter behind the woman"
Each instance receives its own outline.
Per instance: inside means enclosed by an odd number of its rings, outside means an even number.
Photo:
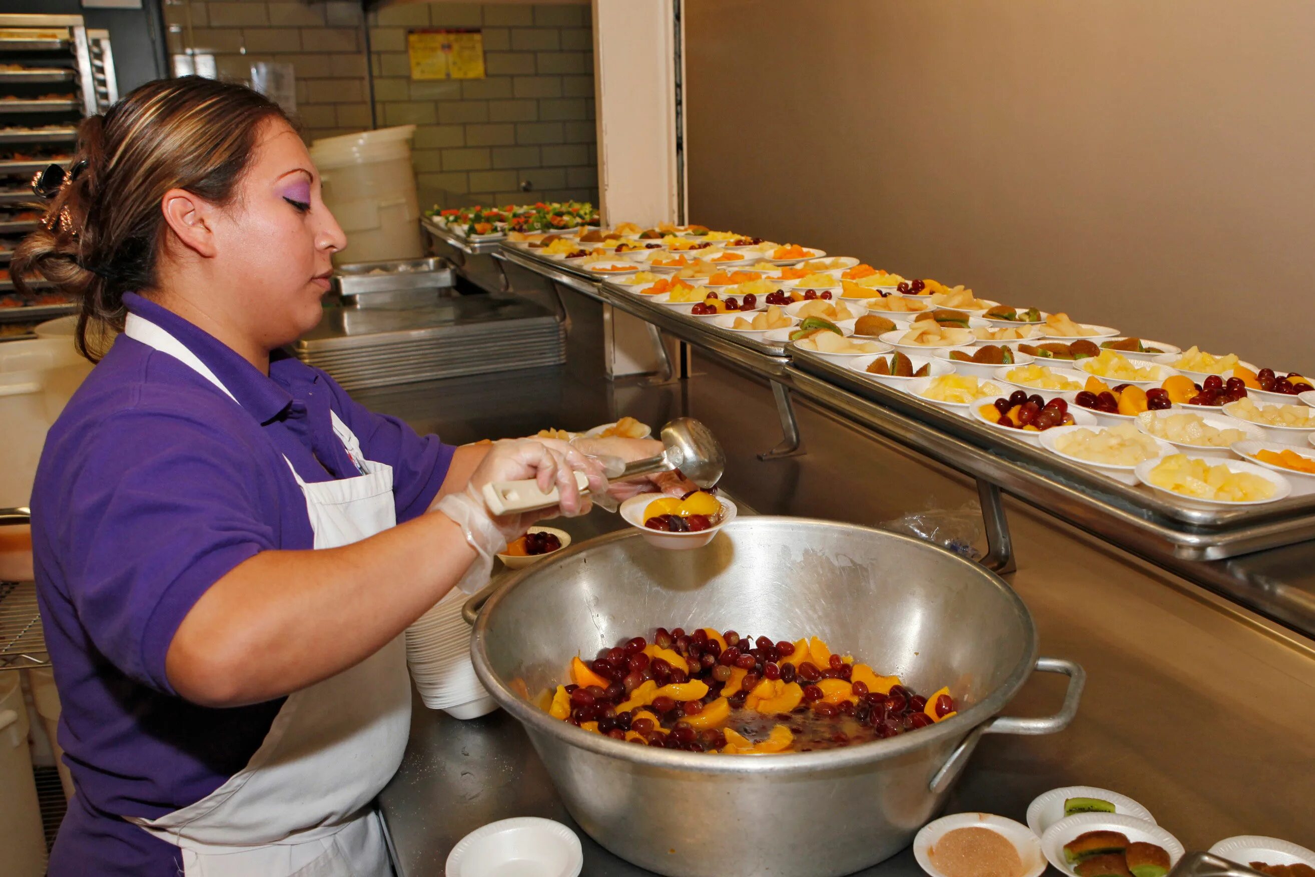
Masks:
[[[329,308],[293,352],[346,389],[565,362],[565,326],[518,297],[458,296],[398,308]]]

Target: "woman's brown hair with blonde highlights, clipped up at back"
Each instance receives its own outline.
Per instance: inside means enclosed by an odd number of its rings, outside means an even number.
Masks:
[[[103,116],[83,120],[78,149],[46,218],[14,250],[11,275],[54,283],[80,304],[74,341],[97,326],[122,330],[125,292],[154,288],[174,188],[229,204],[251,164],[260,126],[288,121],[277,104],[231,83],[184,76],[132,91]]]

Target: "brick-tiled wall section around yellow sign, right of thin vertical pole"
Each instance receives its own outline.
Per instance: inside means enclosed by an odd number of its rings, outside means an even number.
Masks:
[[[379,124],[418,125],[421,204],[597,201],[589,18],[577,3],[406,3],[370,13]],[[412,82],[409,28],[480,28],[488,78]]]

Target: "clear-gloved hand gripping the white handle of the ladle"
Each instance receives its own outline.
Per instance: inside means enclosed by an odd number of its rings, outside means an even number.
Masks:
[[[466,489],[444,496],[434,506],[462,527],[466,542],[475,548],[475,561],[456,582],[466,593],[475,593],[488,584],[493,571],[493,555],[504,551],[509,542],[519,538],[537,521],[558,515],[573,517],[589,511],[589,501],[580,496],[575,472],[584,472],[589,489],[605,490],[606,479],[601,467],[568,446],[552,439],[513,439],[494,442],[484,456]],[[484,505],[483,489],[493,481],[519,481],[534,479],[540,490],[552,489],[560,494],[556,508],[538,509],[522,514],[493,515]]]

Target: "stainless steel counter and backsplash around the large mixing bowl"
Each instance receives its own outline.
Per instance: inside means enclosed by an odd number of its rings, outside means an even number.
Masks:
[[[589,347],[597,306],[567,305],[573,347],[559,369],[358,398],[456,442],[590,426],[618,413],[655,423],[689,413],[726,446],[727,489],[764,514],[874,525],[974,501],[972,483],[953,471],[809,406],[800,410],[809,454],[759,460],[752,451],[777,429],[765,385],[705,362],[676,385],[610,384]],[[1189,849],[1237,834],[1315,845],[1315,642],[1030,506],[1009,509],[1018,556],[1009,581],[1032,611],[1041,652],[1081,663],[1088,688],[1061,734],[984,739],[949,811],[1022,819],[1036,794],[1088,784],[1132,795]],[[594,513],[565,526],[586,536],[614,522]],[[1048,714],[1061,689],[1035,677],[1006,711]],[[575,827],[514,721],[496,713],[458,722],[419,701],[406,757],[380,802],[405,877],[442,874],[451,845],[494,819],[543,815]],[[583,832],[581,841],[586,876],[646,873]],[[920,872],[906,851],[865,873]]]

